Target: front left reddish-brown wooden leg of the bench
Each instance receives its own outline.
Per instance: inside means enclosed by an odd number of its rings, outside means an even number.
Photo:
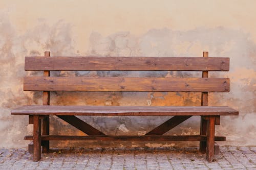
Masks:
[[[41,119],[39,115],[33,116],[33,123],[33,161],[39,161],[41,159]]]

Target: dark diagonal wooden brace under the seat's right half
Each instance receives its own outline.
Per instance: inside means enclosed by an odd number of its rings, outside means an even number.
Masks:
[[[191,116],[174,116],[168,119],[163,124],[156,127],[155,129],[153,129],[152,131],[146,133],[145,135],[163,135],[164,133],[168,132],[170,129],[173,129],[174,127],[184,122],[189,117]]]

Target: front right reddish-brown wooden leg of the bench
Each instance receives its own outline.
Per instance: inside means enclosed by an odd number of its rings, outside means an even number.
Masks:
[[[209,116],[207,120],[206,137],[206,159],[208,162],[214,160],[214,141],[215,141],[215,116]]]

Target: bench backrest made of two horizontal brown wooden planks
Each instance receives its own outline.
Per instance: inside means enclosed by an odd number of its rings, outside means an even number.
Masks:
[[[35,91],[179,91],[228,92],[228,78],[48,77],[50,70],[228,71],[221,57],[26,57],[25,70],[44,70],[44,77],[25,77],[24,90]],[[47,76],[48,75],[48,76]]]

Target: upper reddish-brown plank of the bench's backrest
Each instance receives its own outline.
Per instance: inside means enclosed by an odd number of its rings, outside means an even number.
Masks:
[[[228,71],[222,57],[25,57],[25,70]]]

